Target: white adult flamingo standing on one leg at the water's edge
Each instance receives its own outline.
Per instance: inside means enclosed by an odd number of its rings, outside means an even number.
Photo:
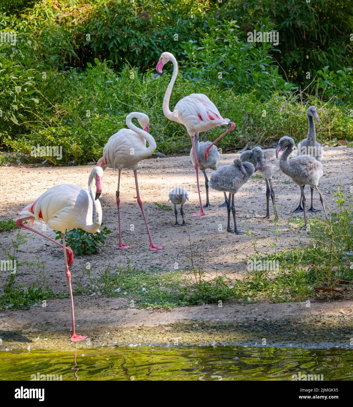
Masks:
[[[86,339],[86,336],[76,335],[75,332],[71,272],[68,270],[68,267],[71,267],[73,264],[73,252],[66,247],[65,230],[81,228],[88,233],[95,233],[99,230],[102,223],[102,209],[98,198],[102,192],[102,177],[102,168],[98,166],[94,167],[88,178],[88,192],[78,185],[61,184],[53,186],[40,195],[34,202],[23,208],[18,215],[24,215],[24,217],[16,221],[20,228],[37,233],[64,249],[65,274],[68,282],[71,305],[71,341],[83,341]],[[96,185],[95,197],[93,196],[94,181]],[[95,213],[92,221],[93,208]],[[22,223],[23,221],[28,222],[24,225]],[[60,230],[62,233],[62,245],[49,236],[33,229],[34,221],[45,222],[53,230]]]

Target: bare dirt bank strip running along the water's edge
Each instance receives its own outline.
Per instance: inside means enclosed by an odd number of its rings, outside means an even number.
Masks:
[[[128,308],[121,298],[77,301],[77,333],[71,344],[70,305],[51,300],[46,308],[0,313],[3,348],[67,349],[121,344],[236,344],[329,348],[351,346],[353,303],[232,304],[175,308]],[[78,303],[78,304],[77,304]]]

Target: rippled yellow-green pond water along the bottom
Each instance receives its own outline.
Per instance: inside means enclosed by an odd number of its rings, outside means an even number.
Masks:
[[[39,372],[39,373],[38,373]],[[2,380],[353,380],[353,349],[154,346],[0,352]],[[43,376],[42,376],[43,377]],[[51,376],[49,376],[50,378]]]

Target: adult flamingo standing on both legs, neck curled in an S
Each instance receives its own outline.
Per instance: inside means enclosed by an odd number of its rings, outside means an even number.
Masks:
[[[132,118],[137,118],[142,129],[132,123]],[[128,129],[121,129],[117,133],[110,136],[108,142],[103,149],[103,157],[99,158],[97,165],[103,169],[111,167],[119,170],[118,188],[116,192],[116,200],[118,207],[118,223],[119,223],[119,246],[118,249],[128,249],[130,246],[124,245],[121,241],[121,226],[120,226],[120,175],[123,168],[131,168],[135,174],[135,184],[137,193],[137,202],[141,208],[143,219],[145,220],[148,238],[150,239],[150,249],[160,250],[163,246],[155,246],[152,241],[150,230],[143,211],[142,201],[139,193],[139,184],[137,182],[137,167],[139,162],[144,158],[153,154],[157,145],[154,138],[149,134],[150,120],[144,113],[132,112],[126,116],[126,125]],[[146,147],[146,141],[148,147]]]

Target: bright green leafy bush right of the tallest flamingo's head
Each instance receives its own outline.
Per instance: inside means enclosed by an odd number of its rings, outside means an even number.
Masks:
[[[278,74],[278,66],[271,56],[276,48],[270,42],[261,46],[245,42],[238,37],[240,31],[235,21],[208,20],[207,32],[197,28],[198,41],[183,42],[187,57],[184,76],[192,81],[232,88],[234,93],[254,92],[265,100],[274,92],[289,94],[293,84]],[[258,31],[271,31],[273,24],[263,22]]]

